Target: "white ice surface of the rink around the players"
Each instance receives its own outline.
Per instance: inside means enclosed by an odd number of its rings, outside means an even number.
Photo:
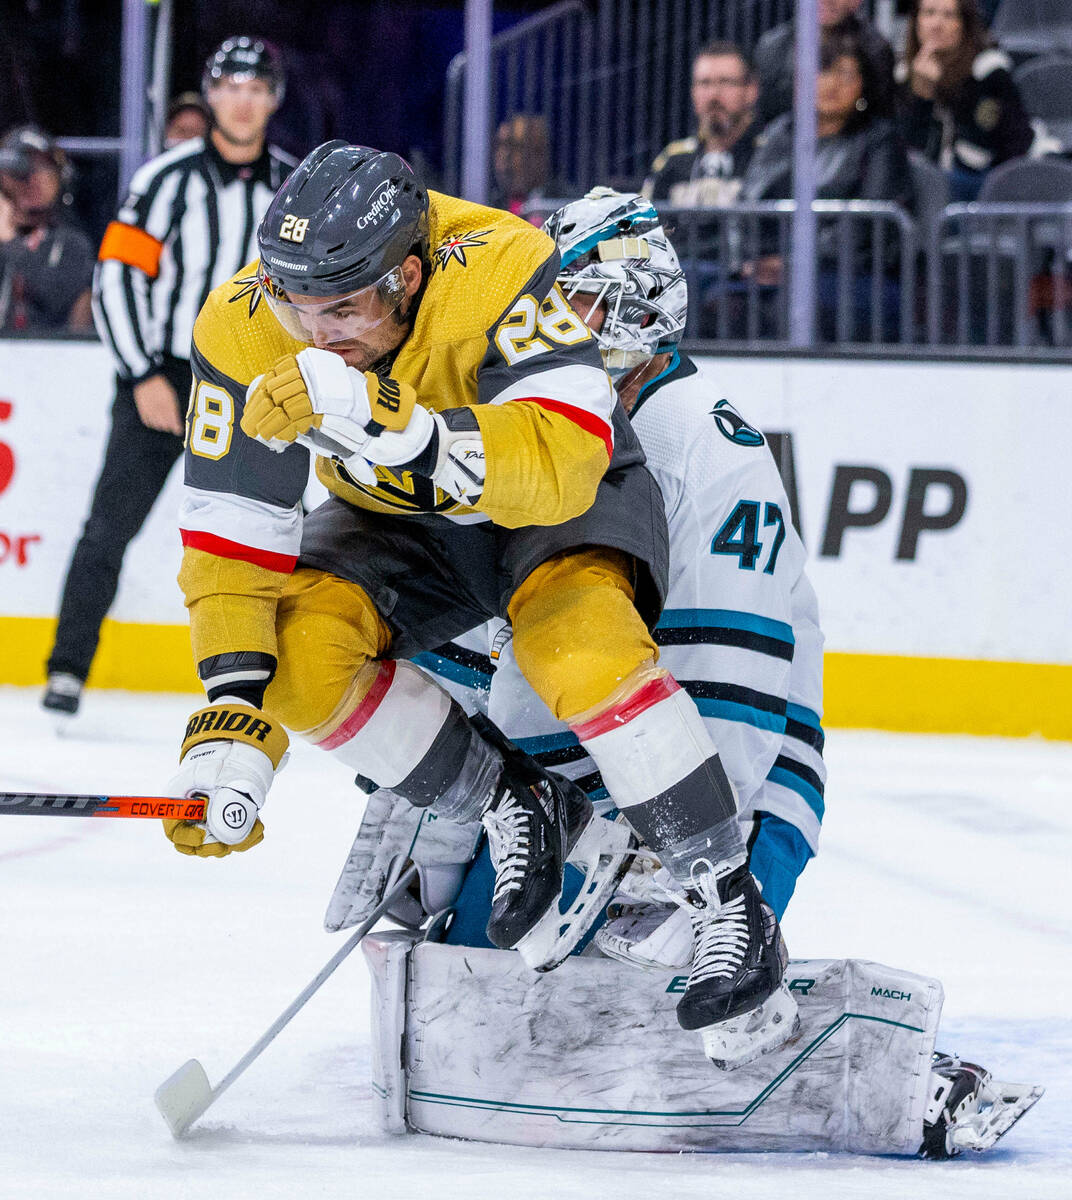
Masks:
[[[89,692],[59,739],[0,689],[0,788],[157,792],[188,696]],[[1043,1084],[986,1156],[540,1151],[379,1133],[355,953],[176,1144],[152,1104],[186,1058],[217,1082],[341,944],[323,912],[359,793],[295,746],[247,854],[184,858],[156,822],[0,826],[0,1198],[592,1200],[1072,1198],[1072,745],[832,731],[797,956],[938,976],[940,1045]]]

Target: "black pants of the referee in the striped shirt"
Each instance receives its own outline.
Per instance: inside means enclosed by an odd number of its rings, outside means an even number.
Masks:
[[[167,358],[161,372],[175,389],[185,413],[190,395],[190,362]],[[133,385],[116,379],[112,432],[104,464],[74,556],[67,568],[49,673],[62,671],[85,679],[97,652],[101,623],[119,587],[122,556],[142,528],[168,473],[182,452],[182,438],[142,424]]]

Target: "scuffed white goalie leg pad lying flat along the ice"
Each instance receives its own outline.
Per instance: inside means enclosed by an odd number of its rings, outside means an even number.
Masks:
[[[516,953],[372,934],[384,1128],[520,1146],[915,1154],[941,1014],[935,979],[791,962],[797,1038],[732,1072],[677,1024],[682,974],[600,956],[537,974]]]

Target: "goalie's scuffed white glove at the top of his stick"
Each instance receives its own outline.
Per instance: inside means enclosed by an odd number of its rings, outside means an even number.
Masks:
[[[328,902],[324,928],[348,929],[366,920],[407,860],[417,864],[419,893],[400,896],[388,916],[417,926],[449,908],[477,853],[481,832],[479,821],[459,824],[437,817],[430,809],[415,808],[388,788],[373,792]]]

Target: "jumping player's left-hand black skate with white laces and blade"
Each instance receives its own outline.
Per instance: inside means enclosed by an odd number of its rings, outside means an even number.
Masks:
[[[635,842],[624,823],[597,817],[575,784],[544,770],[491,721],[472,720],[503,757],[481,816],[496,876],[487,937],[516,949],[533,970],[551,971],[610,901]],[[583,882],[562,912],[567,862],[581,870]]]

